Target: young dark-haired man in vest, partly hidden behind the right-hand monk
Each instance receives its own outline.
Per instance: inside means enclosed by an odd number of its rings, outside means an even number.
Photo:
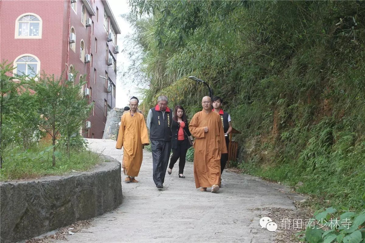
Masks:
[[[232,132],[232,123],[231,123],[231,116],[226,111],[222,110],[222,104],[223,99],[219,96],[213,97],[213,111],[217,112],[220,115],[220,118],[222,119],[222,125],[223,125],[223,131],[224,136],[226,138],[226,146],[228,151],[228,145],[229,145],[229,138],[228,134]],[[226,167],[228,160],[228,154],[222,154],[220,157],[220,174],[222,175],[224,167]],[[220,187],[220,185],[219,185]]]

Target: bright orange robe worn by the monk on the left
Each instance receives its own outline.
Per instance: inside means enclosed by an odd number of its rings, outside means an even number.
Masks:
[[[132,116],[130,112],[122,115],[116,148],[124,148],[123,164],[126,175],[138,176],[143,158],[143,144],[149,144],[145,118],[139,112]]]

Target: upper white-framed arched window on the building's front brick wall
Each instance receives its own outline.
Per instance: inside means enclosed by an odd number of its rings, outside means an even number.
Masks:
[[[25,13],[16,19],[15,38],[34,38],[42,37],[42,19],[34,13]]]

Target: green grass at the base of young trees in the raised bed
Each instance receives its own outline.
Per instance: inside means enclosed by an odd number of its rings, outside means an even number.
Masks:
[[[98,154],[87,150],[59,150],[56,165],[52,166],[52,150],[48,145],[34,145],[27,150],[8,148],[3,154],[0,180],[35,179],[42,176],[65,175],[68,172],[88,171],[101,162]]]

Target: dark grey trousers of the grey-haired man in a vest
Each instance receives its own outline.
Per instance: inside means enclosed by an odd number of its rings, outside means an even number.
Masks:
[[[165,181],[167,165],[169,164],[171,142],[151,140],[153,181],[156,185],[162,185]]]

